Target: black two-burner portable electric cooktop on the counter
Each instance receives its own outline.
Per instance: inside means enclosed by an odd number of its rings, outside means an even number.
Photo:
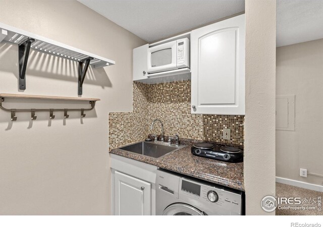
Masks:
[[[217,145],[212,143],[195,143],[191,147],[194,155],[228,162],[242,162],[243,150],[237,147]]]

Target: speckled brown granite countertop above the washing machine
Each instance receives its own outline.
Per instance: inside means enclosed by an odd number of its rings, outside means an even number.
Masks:
[[[110,153],[244,191],[243,162],[230,163],[195,156],[191,153],[190,146],[185,146],[159,159],[123,151],[119,148],[112,149]]]

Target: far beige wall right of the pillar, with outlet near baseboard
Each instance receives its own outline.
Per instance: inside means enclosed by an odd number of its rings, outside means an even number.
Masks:
[[[323,39],[277,48],[277,95],[295,95],[295,131],[276,131],[276,176],[323,185],[299,176],[323,175]]]

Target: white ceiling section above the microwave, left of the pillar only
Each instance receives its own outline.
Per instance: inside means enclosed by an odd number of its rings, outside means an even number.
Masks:
[[[78,0],[147,42],[244,11],[244,1]]]

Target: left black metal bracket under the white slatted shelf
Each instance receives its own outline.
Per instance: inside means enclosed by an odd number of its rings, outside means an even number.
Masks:
[[[28,63],[28,56],[30,51],[31,43],[33,43],[35,39],[26,38],[19,44],[19,89],[26,89],[26,68]]]

